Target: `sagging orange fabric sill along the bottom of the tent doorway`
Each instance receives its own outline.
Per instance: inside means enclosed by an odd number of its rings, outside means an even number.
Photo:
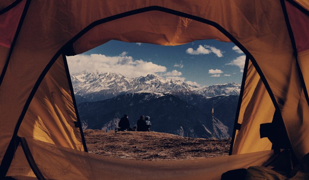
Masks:
[[[267,165],[275,157],[269,150],[184,161],[136,161],[76,151],[39,140],[24,140],[24,144],[36,160],[40,176],[46,179],[220,179],[226,169]],[[17,151],[8,175],[17,179],[35,177],[20,146]]]

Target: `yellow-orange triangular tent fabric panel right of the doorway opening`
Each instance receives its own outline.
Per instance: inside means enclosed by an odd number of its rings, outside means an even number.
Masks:
[[[272,122],[275,107],[252,62],[249,59],[247,61],[248,70],[246,75],[244,74],[246,80],[238,118],[241,128],[236,131],[232,154],[272,148],[272,143],[267,138],[260,138],[260,128],[256,127],[262,123]]]

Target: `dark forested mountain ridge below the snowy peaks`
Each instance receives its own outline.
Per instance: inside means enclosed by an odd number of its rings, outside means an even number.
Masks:
[[[222,113],[220,118],[234,122],[238,96],[216,96],[205,99],[204,105],[215,101],[215,109],[230,107],[232,113]],[[221,106],[221,107],[220,107]],[[131,126],[144,113],[150,116],[151,131],[165,132],[176,135],[208,138],[213,134],[211,106],[200,109],[175,95],[164,93],[133,93],[119,95],[111,99],[83,102],[78,105],[78,112],[84,129],[114,130],[123,114],[129,115]],[[220,113],[216,111],[216,113]],[[234,116],[233,116],[234,115]],[[219,117],[219,116],[218,116]],[[231,137],[229,127],[217,117],[214,118],[215,136],[220,139]],[[230,126],[230,125],[229,125]]]

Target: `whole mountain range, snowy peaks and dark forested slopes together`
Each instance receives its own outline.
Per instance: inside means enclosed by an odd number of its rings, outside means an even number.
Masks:
[[[123,114],[131,126],[144,114],[151,130],[181,136],[231,137],[240,85],[197,87],[156,75],[127,78],[117,73],[81,71],[71,75],[83,129],[113,130]]]

